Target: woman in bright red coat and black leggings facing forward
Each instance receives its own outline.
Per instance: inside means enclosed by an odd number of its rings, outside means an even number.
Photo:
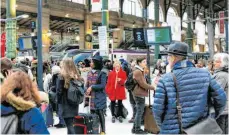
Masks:
[[[111,114],[112,114],[112,123],[115,123],[115,104],[118,100],[118,120],[122,123],[122,100],[126,99],[125,92],[125,81],[126,81],[126,72],[122,70],[121,63],[116,61],[114,63],[114,69],[108,75],[108,81],[106,85],[106,93],[111,100]]]

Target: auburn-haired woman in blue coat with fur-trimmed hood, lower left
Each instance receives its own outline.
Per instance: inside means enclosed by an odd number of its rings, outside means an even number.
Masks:
[[[17,133],[49,134],[37,108],[40,102],[36,84],[23,71],[9,75],[1,86],[1,117],[16,114],[19,119]]]

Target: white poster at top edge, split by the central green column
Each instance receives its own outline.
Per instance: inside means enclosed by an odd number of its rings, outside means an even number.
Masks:
[[[91,12],[102,12],[102,0],[91,0]],[[119,11],[119,0],[109,0],[108,9],[110,11]]]

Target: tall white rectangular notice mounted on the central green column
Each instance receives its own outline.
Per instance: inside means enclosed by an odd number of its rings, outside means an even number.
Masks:
[[[107,40],[107,27],[106,26],[99,26],[98,27],[99,33],[99,50],[101,56],[108,56],[108,40]]]

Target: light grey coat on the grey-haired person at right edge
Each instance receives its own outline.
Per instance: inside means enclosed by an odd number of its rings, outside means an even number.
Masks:
[[[223,114],[228,114],[228,67],[223,67],[215,70],[213,78],[218,82],[218,84],[227,94],[227,105],[223,111]]]

